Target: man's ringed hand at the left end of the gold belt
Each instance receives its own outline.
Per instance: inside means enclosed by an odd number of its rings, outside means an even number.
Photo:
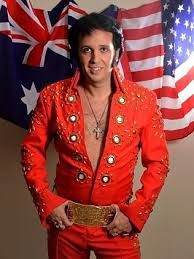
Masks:
[[[54,224],[54,226],[56,228],[60,228],[60,229],[65,229],[65,227],[69,227],[73,224],[73,222],[71,222],[66,213],[65,213],[65,207],[68,205],[69,201],[64,202],[63,204],[61,204],[60,206],[58,206],[57,208],[55,208],[51,214],[48,216],[48,221],[51,224]]]

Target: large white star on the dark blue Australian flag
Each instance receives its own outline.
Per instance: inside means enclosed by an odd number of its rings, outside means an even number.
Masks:
[[[39,93],[36,91],[35,84],[32,83],[31,89],[27,89],[22,85],[22,89],[24,91],[25,96],[21,98],[22,102],[27,106],[27,114],[29,114],[32,110],[34,110]]]

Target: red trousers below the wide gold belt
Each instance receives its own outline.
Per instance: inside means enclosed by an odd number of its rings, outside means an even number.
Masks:
[[[48,232],[49,259],[88,259],[90,250],[101,259],[140,259],[136,234],[111,237],[103,228],[76,224]]]

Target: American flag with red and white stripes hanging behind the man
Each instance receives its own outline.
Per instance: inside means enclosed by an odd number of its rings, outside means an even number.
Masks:
[[[120,9],[132,79],[152,90],[167,140],[194,131],[194,7],[191,0],[162,0]]]

